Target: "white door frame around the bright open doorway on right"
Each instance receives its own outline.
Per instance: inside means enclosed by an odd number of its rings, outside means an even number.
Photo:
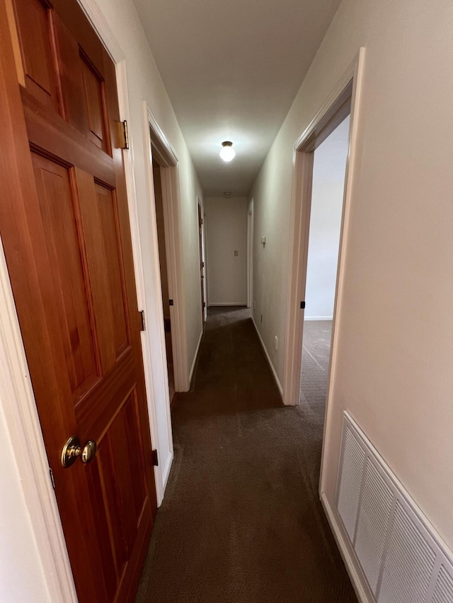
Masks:
[[[359,125],[360,95],[362,91],[362,74],[365,62],[365,48],[355,57],[350,67],[338,81],[326,102],[322,105],[314,119],[305,129],[302,136],[294,144],[293,153],[293,186],[291,199],[289,250],[289,295],[287,303],[287,326],[285,338],[285,369],[283,376],[283,402],[299,404],[300,375],[302,361],[302,330],[306,282],[306,262],[308,257],[308,232],[311,204],[311,181],[313,172],[314,149],[327,138],[328,134],[350,113],[349,151],[345,170],[345,188],[343,193],[343,217],[341,224],[340,245],[338,251],[338,269],[336,279],[336,295],[333,309],[331,359],[328,377],[328,394],[326,406],[326,422],[329,399],[332,391],[332,380],[336,365],[338,349],[336,326],[342,311],[343,281],[345,273],[345,247],[350,214],[350,199],[354,180],[355,156],[357,146],[357,130]],[[343,111],[343,114],[341,113]],[[326,433],[324,433],[324,441]]]

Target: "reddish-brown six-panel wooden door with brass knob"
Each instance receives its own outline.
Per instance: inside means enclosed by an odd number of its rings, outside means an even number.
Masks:
[[[0,0],[0,233],[81,603],[134,599],[156,514],[115,67],[75,0]],[[96,458],[64,469],[73,435]]]

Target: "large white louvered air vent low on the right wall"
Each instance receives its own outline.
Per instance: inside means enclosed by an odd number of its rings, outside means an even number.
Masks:
[[[453,603],[452,553],[348,413],[337,509],[377,603]]]

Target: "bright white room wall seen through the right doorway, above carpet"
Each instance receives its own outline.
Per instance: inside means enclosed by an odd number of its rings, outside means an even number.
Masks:
[[[304,320],[333,317],[349,116],[314,152]]]

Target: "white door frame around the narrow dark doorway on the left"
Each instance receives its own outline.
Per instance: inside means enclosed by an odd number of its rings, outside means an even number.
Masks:
[[[164,229],[165,245],[168,269],[168,295],[173,299],[170,306],[171,341],[173,348],[173,371],[176,392],[187,392],[190,387],[190,376],[188,370],[188,343],[187,343],[187,321],[185,315],[185,294],[183,287],[183,262],[181,254],[181,224],[180,224],[180,199],[179,199],[179,175],[178,158],[168,143],[164,132],[157,124],[151,113],[146,100],[143,101],[144,108],[144,145],[147,161],[148,192],[151,203],[151,216],[153,221],[154,238],[154,271],[156,283],[161,291],[161,276],[159,267],[159,246],[157,242],[156,204],[154,202],[154,177],[152,170],[152,153],[159,156],[159,160],[166,165],[161,168],[162,197],[164,198]],[[151,128],[154,140],[151,140],[149,129]],[[159,148],[157,148],[159,146]],[[152,151],[151,151],[152,147]],[[161,299],[159,302],[161,305]],[[162,324],[162,329],[164,325]],[[161,341],[165,352],[165,334]],[[166,363],[166,361],[165,361]],[[171,421],[168,405],[168,420]]]

